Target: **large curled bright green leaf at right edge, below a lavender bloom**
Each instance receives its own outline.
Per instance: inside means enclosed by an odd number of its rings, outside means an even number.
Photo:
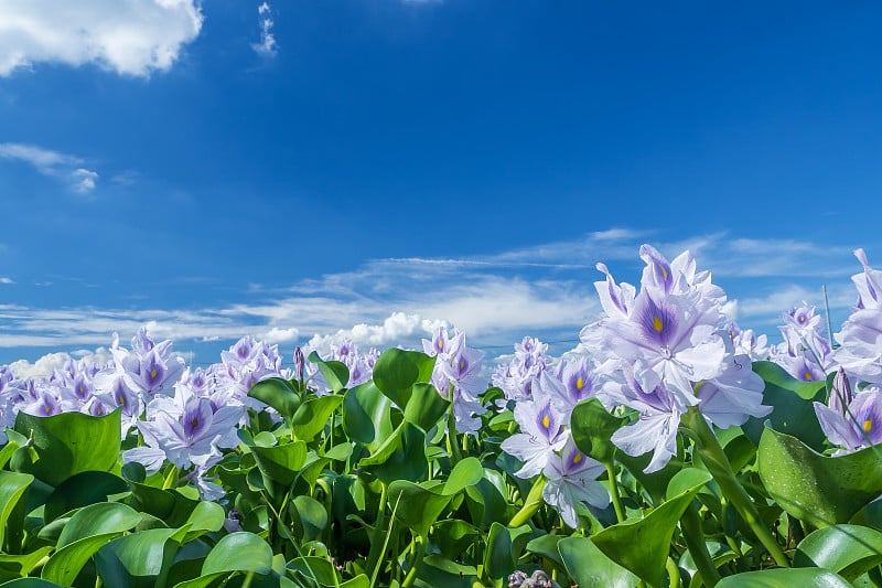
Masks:
[[[879,448],[829,458],[799,439],[766,429],[756,462],[768,493],[793,516],[818,527],[848,523],[882,493]]]

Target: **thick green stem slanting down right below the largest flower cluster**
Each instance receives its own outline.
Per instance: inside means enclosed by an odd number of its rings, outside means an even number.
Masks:
[[[717,436],[713,435],[698,407],[690,406],[680,417],[680,425],[692,434],[696,440],[696,451],[701,457],[701,461],[704,462],[708,471],[717,480],[723,495],[729,499],[729,502],[741,514],[754,535],[756,535],[756,538],[760,539],[760,543],[768,550],[768,555],[775,559],[778,566],[790,567],[790,562],[784,555],[781,545],[778,545],[772,532],[760,517],[756,505],[744,490],[744,487],[739,483],[738,478],[735,478],[732,466],[729,463],[729,458],[725,457],[723,448],[720,447],[720,441],[717,440]]]

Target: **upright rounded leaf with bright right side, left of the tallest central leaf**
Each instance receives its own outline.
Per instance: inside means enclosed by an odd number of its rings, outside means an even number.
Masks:
[[[374,452],[392,434],[389,407],[391,400],[373,381],[352,387],[343,397],[343,429]]]

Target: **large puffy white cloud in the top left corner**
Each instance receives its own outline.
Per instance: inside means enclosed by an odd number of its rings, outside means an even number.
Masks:
[[[0,76],[87,63],[135,76],[169,70],[202,28],[198,0],[0,2]]]

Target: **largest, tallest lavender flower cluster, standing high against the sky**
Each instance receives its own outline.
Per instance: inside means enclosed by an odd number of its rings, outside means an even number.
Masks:
[[[582,330],[585,348],[601,364],[598,396],[607,407],[625,406],[639,418],[612,441],[630,456],[653,451],[646,472],[662,469],[677,449],[681,415],[700,405],[719,427],[767,415],[763,381],[749,353],[736,351],[735,335],[720,329],[725,292],[685,252],[668,263],[649,245],[639,291],[606,276],[594,286],[605,316]]]

